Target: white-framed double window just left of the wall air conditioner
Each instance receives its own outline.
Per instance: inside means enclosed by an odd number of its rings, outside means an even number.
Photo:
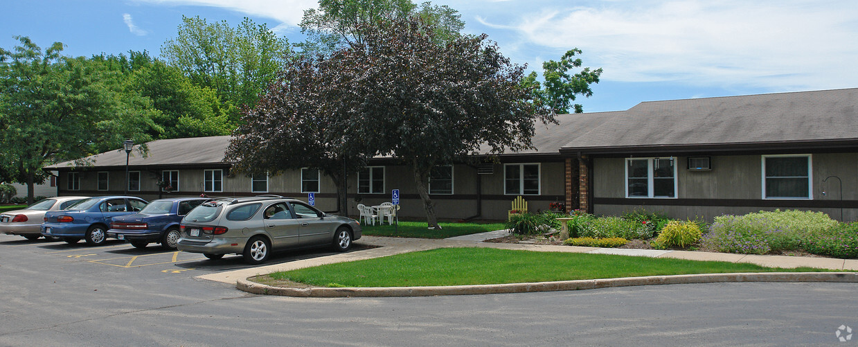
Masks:
[[[673,158],[625,160],[626,198],[676,198]]]

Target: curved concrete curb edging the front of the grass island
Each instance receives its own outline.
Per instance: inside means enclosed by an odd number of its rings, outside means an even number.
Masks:
[[[583,290],[654,284],[727,283],[727,282],[833,282],[858,283],[858,272],[765,272],[719,273],[674,276],[603,278],[576,281],[456,285],[439,287],[387,288],[287,288],[239,279],[236,288],[260,295],[297,297],[383,297],[529,293],[540,291]]]

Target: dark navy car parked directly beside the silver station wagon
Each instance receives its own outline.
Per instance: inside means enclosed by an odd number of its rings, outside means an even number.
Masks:
[[[119,240],[129,240],[137,248],[146,247],[151,242],[161,244],[167,249],[176,248],[178,242],[178,222],[197,205],[209,198],[162,198],[155,200],[139,213],[113,218],[107,236]]]

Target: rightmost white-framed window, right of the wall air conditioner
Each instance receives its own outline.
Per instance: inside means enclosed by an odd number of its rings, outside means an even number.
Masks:
[[[811,198],[810,155],[763,155],[764,198]]]

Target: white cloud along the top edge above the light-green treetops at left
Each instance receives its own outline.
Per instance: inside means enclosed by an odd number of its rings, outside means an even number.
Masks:
[[[142,3],[157,3],[166,5],[210,6],[263,18],[271,18],[297,27],[304,16],[305,9],[316,8],[316,0],[136,0]],[[279,30],[285,30],[280,27]]]

